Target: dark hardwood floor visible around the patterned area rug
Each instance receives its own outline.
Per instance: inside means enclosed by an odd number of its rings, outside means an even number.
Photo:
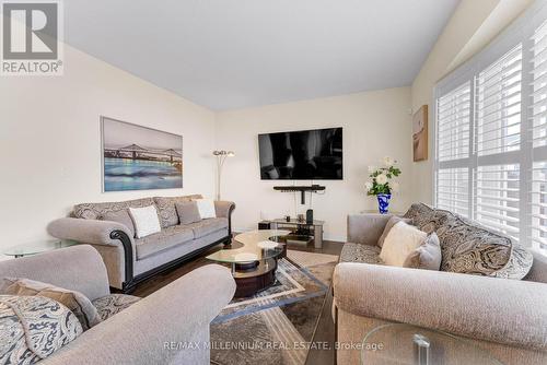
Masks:
[[[340,255],[341,247],[342,247],[341,243],[324,240],[322,249],[313,247],[313,242],[310,243],[307,246],[289,245],[288,248],[292,250],[300,250],[307,252]],[[179,266],[176,269],[173,269],[172,271],[168,271],[160,275],[155,275],[154,278],[138,284],[132,294],[141,297],[152,294],[153,292],[160,290],[161,287],[167,285],[172,281],[190,272],[191,270],[211,263],[205,257],[220,249],[222,249],[222,245],[212,247],[209,251],[201,254],[190,262],[183,263],[182,266]],[[328,350],[323,350],[323,349],[319,350],[312,348],[307,353],[307,358],[305,363],[306,365],[333,365],[335,363],[335,351],[334,351],[335,325],[333,322],[333,317],[330,314],[331,305],[333,305],[333,291],[329,290],[325,297],[322,314],[316,323],[312,341],[315,343],[328,342],[330,346]]]

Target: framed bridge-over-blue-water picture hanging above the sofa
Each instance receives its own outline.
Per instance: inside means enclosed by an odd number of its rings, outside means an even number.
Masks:
[[[183,187],[183,137],[101,117],[103,191]]]

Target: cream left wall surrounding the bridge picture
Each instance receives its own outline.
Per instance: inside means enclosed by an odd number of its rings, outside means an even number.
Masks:
[[[184,188],[102,193],[101,115],[183,134]],[[1,78],[0,116],[0,252],[74,203],[213,195],[214,114],[71,47],[62,76]]]

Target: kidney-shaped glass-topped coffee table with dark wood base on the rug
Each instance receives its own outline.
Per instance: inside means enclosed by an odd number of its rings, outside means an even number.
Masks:
[[[284,236],[290,233],[284,229],[245,232],[236,235],[232,245],[207,259],[230,264],[237,284],[235,296],[251,296],[276,282],[277,260],[287,256]]]

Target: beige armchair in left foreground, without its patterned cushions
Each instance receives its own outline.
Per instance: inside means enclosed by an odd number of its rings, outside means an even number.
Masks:
[[[26,278],[78,291],[94,305],[110,295],[103,260],[89,245],[1,261],[1,278]],[[113,315],[39,364],[209,364],[210,322],[234,293],[230,270],[201,267],[138,302],[127,296],[132,304],[125,308],[118,297],[109,310]]]

